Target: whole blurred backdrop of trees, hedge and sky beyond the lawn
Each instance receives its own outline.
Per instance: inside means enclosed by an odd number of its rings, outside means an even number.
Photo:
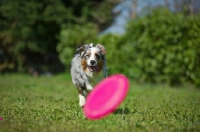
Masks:
[[[200,86],[200,0],[0,0],[0,72],[69,72],[101,43],[109,75]]]

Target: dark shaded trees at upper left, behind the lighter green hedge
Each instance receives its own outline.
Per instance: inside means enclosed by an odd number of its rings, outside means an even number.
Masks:
[[[102,27],[110,17],[101,12],[107,13],[113,4],[105,0],[0,1],[0,71],[24,71],[45,63],[46,58],[55,59],[63,23],[96,22],[100,15],[103,21],[96,26]]]

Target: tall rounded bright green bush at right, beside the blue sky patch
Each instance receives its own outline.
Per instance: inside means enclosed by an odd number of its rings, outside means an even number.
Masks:
[[[200,18],[153,10],[132,21],[125,35],[132,43],[135,72],[141,81],[179,84],[200,80]]]

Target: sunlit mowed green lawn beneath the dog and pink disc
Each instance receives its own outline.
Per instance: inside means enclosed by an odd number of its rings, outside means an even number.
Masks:
[[[67,73],[51,78],[0,75],[0,131],[200,131],[199,89],[130,82],[128,96],[115,112],[88,120]]]

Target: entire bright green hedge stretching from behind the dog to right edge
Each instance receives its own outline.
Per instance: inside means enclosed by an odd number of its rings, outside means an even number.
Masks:
[[[66,65],[70,65],[75,45],[101,43],[107,49],[109,74],[123,73],[138,82],[200,85],[200,18],[197,16],[156,9],[131,21],[123,36],[96,37],[93,31],[88,29],[83,33],[82,30],[85,28],[80,26],[61,32],[58,49],[62,49],[60,58]],[[74,35],[69,36],[69,32]]]

